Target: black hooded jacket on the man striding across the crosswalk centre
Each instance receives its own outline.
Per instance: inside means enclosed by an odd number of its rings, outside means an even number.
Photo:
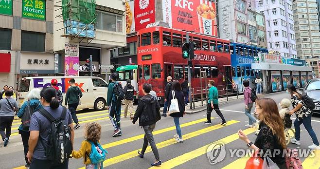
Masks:
[[[139,104],[132,122],[135,123],[138,118],[139,126],[155,124],[161,119],[160,105],[156,97],[151,94],[146,94],[139,99]]]

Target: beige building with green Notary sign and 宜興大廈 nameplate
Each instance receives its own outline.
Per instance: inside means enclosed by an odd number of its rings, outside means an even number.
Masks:
[[[53,75],[53,0],[0,1],[0,86]]]

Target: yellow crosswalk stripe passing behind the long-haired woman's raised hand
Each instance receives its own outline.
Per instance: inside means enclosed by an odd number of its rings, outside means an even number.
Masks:
[[[230,123],[230,122],[228,122],[228,124],[229,124],[229,123]],[[244,130],[243,132],[244,132],[245,134],[250,134],[250,133],[252,133],[252,132],[254,132],[254,131],[255,131],[254,128],[249,128],[249,129]],[[183,155],[180,155],[180,156],[178,156],[178,157],[176,157],[176,158],[173,158],[173,159],[171,159],[171,160],[169,160],[169,161],[166,161],[166,162],[164,162],[164,163],[161,164],[161,168],[164,168],[164,169],[172,169],[172,168],[174,168],[174,167],[176,167],[176,166],[178,166],[178,165],[181,165],[181,164],[183,164],[183,163],[185,163],[185,162],[187,162],[187,161],[190,161],[190,160],[192,160],[192,159],[194,159],[194,158],[196,158],[196,157],[198,157],[198,156],[200,156],[200,155],[203,155],[203,154],[207,153],[208,147],[209,147],[210,145],[212,145],[212,144],[221,143],[221,142],[224,143],[224,144],[228,144],[228,143],[230,143],[230,142],[232,142],[232,141],[235,141],[235,140],[237,140],[237,139],[239,139],[238,133],[234,133],[234,134],[229,135],[229,136],[227,136],[227,137],[225,137],[225,138],[222,138],[222,139],[220,139],[220,140],[216,140],[216,141],[214,141],[214,142],[211,143],[211,144],[205,145],[205,146],[203,146],[203,147],[201,147],[201,148],[199,148],[199,149],[196,149],[196,150],[187,152],[187,153],[185,153],[185,154],[183,154]],[[214,146],[213,146],[213,147],[214,147]],[[208,161],[208,163],[209,163],[209,161]],[[156,169],[156,168],[157,168],[157,167],[151,167],[151,168],[149,168],[149,169]],[[236,167],[235,169],[241,169],[241,168]]]

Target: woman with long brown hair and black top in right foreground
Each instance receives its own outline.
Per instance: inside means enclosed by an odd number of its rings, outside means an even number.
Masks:
[[[283,156],[284,150],[286,150],[284,124],[276,102],[270,98],[258,99],[255,113],[261,120],[261,129],[254,144],[242,130],[238,131],[239,138],[245,141],[249,148],[260,150],[260,156],[269,156],[279,169],[287,169]]]

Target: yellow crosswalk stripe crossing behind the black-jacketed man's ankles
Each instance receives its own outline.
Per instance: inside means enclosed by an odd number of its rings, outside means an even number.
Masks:
[[[235,123],[238,123],[240,121],[237,121],[237,120],[231,120],[231,121],[228,121],[228,125],[226,126],[230,126],[232,124],[235,124]],[[194,131],[194,132],[191,132],[191,133],[188,133],[188,134],[185,134],[183,135],[183,139],[184,140],[187,140],[187,139],[190,139],[190,138],[193,138],[193,137],[196,137],[196,136],[199,136],[201,134],[204,134],[204,133],[207,133],[207,132],[210,132],[210,131],[214,131],[214,130],[217,130],[217,129],[221,129],[223,127],[226,127],[226,126],[223,126],[223,125],[214,125],[214,126],[211,126],[211,127],[207,127],[207,128],[204,128],[204,129],[201,129],[201,130],[198,130],[198,131]],[[253,131],[252,131],[253,132]],[[160,142],[157,145],[157,148],[158,149],[161,149],[161,148],[164,148],[164,147],[167,147],[167,146],[170,146],[170,145],[173,145],[177,143],[177,141],[175,139],[169,139],[169,140],[166,140],[166,141],[163,141],[163,142]],[[128,160],[130,158],[133,158],[133,157],[136,157],[138,154],[137,154],[137,151],[138,150],[133,150],[131,152],[128,152],[128,153],[124,153],[122,155],[119,155],[119,156],[115,156],[115,157],[112,157],[112,158],[109,158],[107,159],[106,161],[103,162],[103,166],[104,167],[107,167],[107,166],[110,166],[110,165],[113,165],[113,164],[116,164],[116,163],[119,163],[119,162],[122,162],[124,160]],[[150,146],[147,147],[147,149],[145,150],[144,153],[148,153],[151,151],[151,148]],[[80,168],[80,169],[85,169],[85,167],[83,168]]]

